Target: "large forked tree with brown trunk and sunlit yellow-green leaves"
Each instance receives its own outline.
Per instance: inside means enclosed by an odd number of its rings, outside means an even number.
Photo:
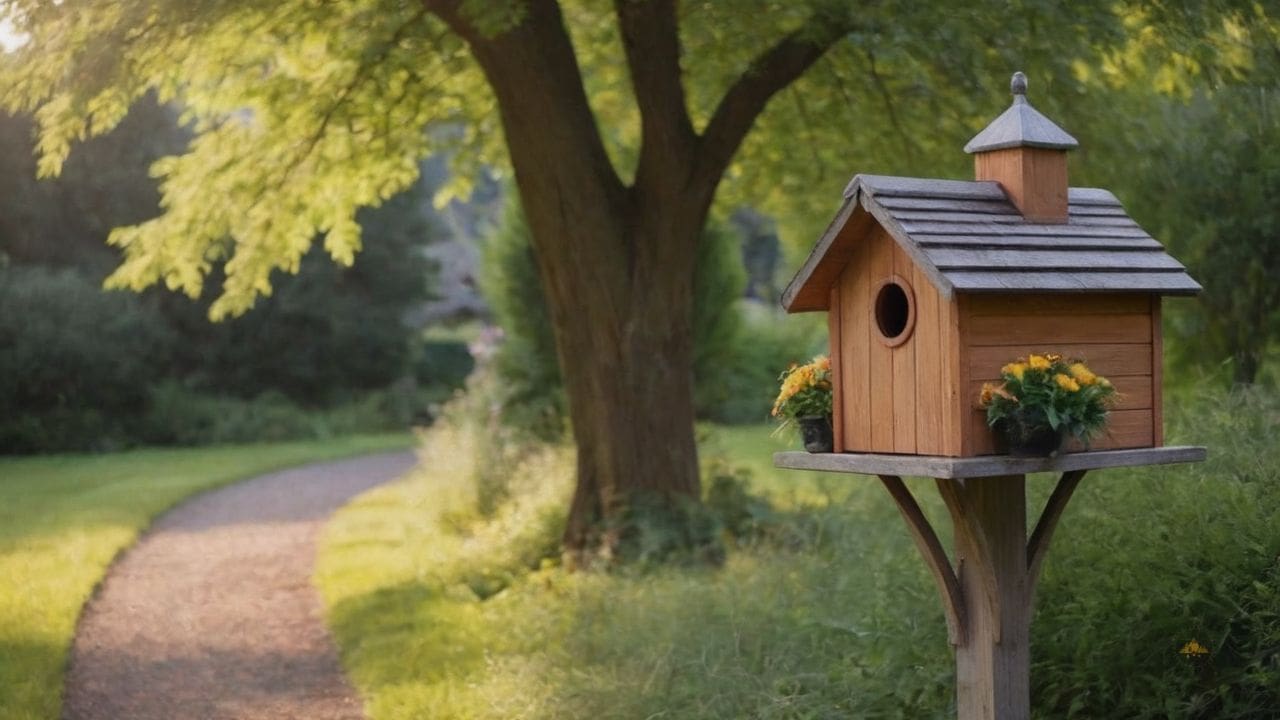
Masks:
[[[832,160],[846,173],[850,152],[884,161],[883,147],[901,149],[893,169],[929,165],[922,149],[959,147],[989,118],[1002,95],[991,78],[1025,63],[1043,68],[1046,86],[1076,87],[1073,63],[1124,42],[1144,13],[1102,0],[959,12],[840,0],[8,8],[32,40],[0,73],[3,100],[37,113],[41,172],[55,173],[73,141],[109,128],[148,88],[183,102],[196,138],[155,167],[165,214],[113,234],[125,260],[111,283],[198,293],[224,264],[215,316],[269,292],[274,268],[296,270],[317,231],[351,263],[356,209],[407,186],[433,146],[453,143],[465,167],[504,145],[579,450],[571,548],[636,492],[698,495],[694,263],[740,149],[735,174],[767,173],[791,196],[814,193],[795,178],[812,181]],[[783,91],[788,101],[762,118]],[[424,132],[444,122],[465,132]],[[829,208],[833,192],[822,195]]]

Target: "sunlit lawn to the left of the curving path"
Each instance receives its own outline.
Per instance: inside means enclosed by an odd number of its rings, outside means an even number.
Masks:
[[[237,479],[411,443],[401,433],[0,459],[0,717],[60,715],[81,607],[156,515]]]

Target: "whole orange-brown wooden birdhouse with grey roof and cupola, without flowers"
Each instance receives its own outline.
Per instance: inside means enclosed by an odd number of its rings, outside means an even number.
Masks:
[[[826,310],[837,452],[996,452],[984,382],[1033,352],[1080,359],[1120,400],[1098,450],[1158,447],[1161,297],[1201,287],[1115,195],[1069,187],[1074,137],[1014,101],[965,146],[974,179],[859,174],[782,296]]]

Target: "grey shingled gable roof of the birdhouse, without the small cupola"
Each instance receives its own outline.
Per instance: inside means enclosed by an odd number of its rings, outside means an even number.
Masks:
[[[1066,223],[1028,222],[991,181],[855,176],[835,220],[782,293],[790,313],[826,310],[831,287],[879,224],[955,292],[1196,295],[1181,263],[1106,190],[1073,187]]]

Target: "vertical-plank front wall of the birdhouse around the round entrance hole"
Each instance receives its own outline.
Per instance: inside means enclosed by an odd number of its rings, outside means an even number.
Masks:
[[[891,277],[910,286],[915,325],[895,347],[879,338],[874,288]],[[946,432],[955,359],[947,332],[946,302],[924,272],[884,231],[876,228],[856,243],[838,283],[840,405],[842,447],[852,452],[942,455],[959,452]],[[950,416],[948,416],[950,415]]]

